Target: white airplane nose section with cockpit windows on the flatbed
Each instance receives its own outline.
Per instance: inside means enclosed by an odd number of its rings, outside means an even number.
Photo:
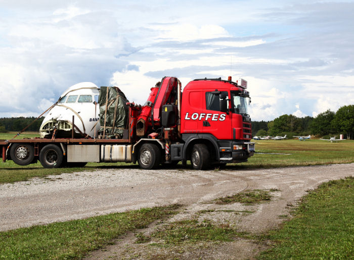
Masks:
[[[100,129],[99,87],[92,82],[70,86],[49,110],[39,128],[41,138],[71,137],[72,118],[76,137],[95,137]]]

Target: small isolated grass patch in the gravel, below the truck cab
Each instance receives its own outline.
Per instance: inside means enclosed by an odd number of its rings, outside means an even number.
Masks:
[[[261,203],[264,201],[271,200],[272,196],[269,194],[269,191],[265,190],[249,190],[240,193],[236,193],[231,196],[218,198],[215,200],[216,204],[229,204],[240,202],[247,205],[254,203]]]

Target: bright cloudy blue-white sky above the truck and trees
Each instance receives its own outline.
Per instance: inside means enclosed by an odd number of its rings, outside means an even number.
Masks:
[[[252,120],[354,104],[354,1],[0,0],[0,117],[69,86],[144,104],[164,76],[248,81]]]

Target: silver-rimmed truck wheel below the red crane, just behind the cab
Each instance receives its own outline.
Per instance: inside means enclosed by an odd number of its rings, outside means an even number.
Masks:
[[[143,144],[139,150],[138,163],[143,169],[156,168],[161,161],[161,152],[154,144]]]

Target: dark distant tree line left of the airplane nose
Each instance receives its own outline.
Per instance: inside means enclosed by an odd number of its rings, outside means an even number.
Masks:
[[[26,131],[39,131],[39,127],[42,124],[44,117],[40,117],[37,121],[33,122],[36,117],[1,117],[0,118],[0,133],[6,133],[9,131],[19,132],[28,126]]]

